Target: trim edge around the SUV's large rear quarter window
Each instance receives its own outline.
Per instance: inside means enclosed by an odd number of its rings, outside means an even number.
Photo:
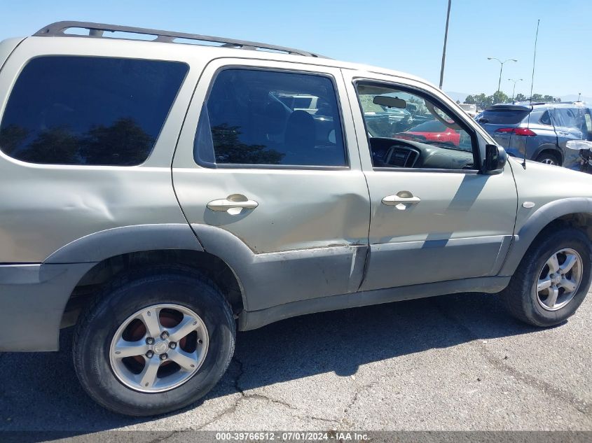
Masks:
[[[141,167],[144,164],[146,164],[146,162],[148,162],[154,151],[156,150],[156,146],[158,145],[158,141],[160,141],[160,135],[163,133],[163,129],[165,128],[167,122],[169,121],[169,117],[170,117],[170,113],[172,111],[172,108],[174,108],[174,104],[177,102],[177,99],[179,98],[179,94],[181,93],[181,89],[183,89],[183,86],[185,84],[185,81],[187,80],[187,76],[189,75],[189,71],[191,71],[191,65],[188,64],[188,62],[185,62],[184,60],[178,60],[178,59],[153,59],[153,58],[146,58],[146,57],[129,57],[129,56],[116,56],[116,55],[88,55],[88,54],[59,54],[59,53],[50,53],[50,54],[38,54],[38,55],[34,55],[33,57],[29,57],[27,58],[26,62],[24,64],[22,64],[22,66],[20,66],[20,69],[18,70],[18,73],[16,73],[16,75],[14,76],[14,81],[13,84],[11,85],[11,89],[8,90],[7,94],[6,94],[6,103],[4,105],[4,108],[0,108],[0,125],[2,120],[4,119],[4,112],[6,112],[6,106],[8,105],[8,100],[11,98],[11,94],[13,93],[13,89],[16,85],[16,82],[18,80],[18,78],[20,77],[22,71],[25,71],[25,68],[29,65],[30,62],[32,62],[32,60],[34,59],[39,59],[39,58],[49,58],[49,57],[72,57],[72,58],[101,58],[101,59],[125,59],[125,60],[142,60],[142,61],[149,61],[149,62],[169,62],[169,63],[179,63],[179,64],[184,64],[186,66],[186,70],[185,70],[185,75],[183,76],[183,78],[181,78],[181,82],[179,83],[179,88],[177,89],[177,93],[174,94],[174,97],[171,101],[171,106],[169,107],[165,118],[163,120],[163,125],[160,126],[160,130],[158,131],[158,134],[156,134],[155,138],[154,138],[154,144],[152,146],[152,149],[150,150],[150,153],[146,156],[146,158],[144,159],[143,162],[140,162],[138,164],[83,164],[83,163],[41,163],[41,162],[29,162],[27,160],[20,160],[17,157],[13,157],[12,155],[5,153],[4,150],[0,147],[0,153],[2,155],[6,155],[6,157],[8,157],[9,159],[11,159],[12,161],[16,161],[16,162],[22,162],[24,164],[37,164],[37,165],[41,165],[43,167],[67,167],[67,168],[73,168],[73,169],[81,169],[81,167],[84,168],[95,168],[95,167],[99,167],[99,168],[104,168],[104,167],[114,167],[114,168],[137,168],[137,167]],[[0,66],[0,69],[2,68],[2,66]]]

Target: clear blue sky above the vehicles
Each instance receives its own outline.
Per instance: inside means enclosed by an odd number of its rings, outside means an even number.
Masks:
[[[30,35],[58,20],[128,24],[264,41],[439,82],[446,0],[0,0],[0,39]],[[592,97],[592,0],[453,0],[443,89],[497,90],[500,65],[530,92],[541,19],[535,90]]]

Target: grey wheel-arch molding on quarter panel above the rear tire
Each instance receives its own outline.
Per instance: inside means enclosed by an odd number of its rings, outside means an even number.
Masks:
[[[114,227],[71,241],[52,253],[44,263],[88,263],[125,253],[156,249],[203,251],[186,223]]]

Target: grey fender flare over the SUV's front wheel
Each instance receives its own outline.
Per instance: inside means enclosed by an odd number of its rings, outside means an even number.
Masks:
[[[528,247],[532,244],[532,241],[537,237],[539,232],[553,220],[574,213],[592,214],[592,198],[573,197],[560,199],[547,203],[537,209],[526,220],[526,223],[517,232],[517,235],[514,236],[514,241],[512,241],[508,256],[499,275],[511,276],[514,274]]]

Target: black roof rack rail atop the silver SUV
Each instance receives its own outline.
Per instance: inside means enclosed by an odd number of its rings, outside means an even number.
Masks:
[[[67,34],[67,29],[78,28],[88,29],[88,35],[80,34]],[[323,57],[322,55],[314,54],[312,52],[285,48],[284,46],[268,45],[267,43],[257,43],[254,41],[243,41],[235,40],[233,38],[226,37],[214,37],[214,36],[202,36],[199,34],[186,34],[185,32],[172,32],[172,31],[160,31],[158,29],[138,28],[131,26],[119,26],[117,24],[104,24],[104,23],[92,23],[92,22],[55,22],[48,24],[46,27],[36,31],[34,36],[52,36],[52,37],[90,37],[90,38],[113,38],[104,36],[104,32],[127,32],[129,34],[144,34],[149,36],[155,36],[151,41],[160,41],[164,43],[179,43],[175,40],[177,38],[184,38],[187,40],[194,40],[196,42],[209,43],[220,43],[219,48],[235,48],[235,49],[248,49],[248,50],[268,50],[271,52],[285,52],[287,54],[304,55],[305,57]],[[124,38],[125,37],[115,37]],[[197,43],[199,44],[199,43]]]

